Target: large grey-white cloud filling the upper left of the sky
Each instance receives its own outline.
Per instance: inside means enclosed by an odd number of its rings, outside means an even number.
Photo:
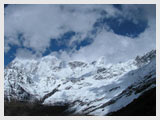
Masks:
[[[111,5],[103,8],[111,8]],[[51,38],[67,31],[85,36],[99,17],[100,5],[9,5],[5,9],[6,43],[18,43],[18,34],[23,34],[25,47],[44,52]],[[108,12],[113,14],[114,11]],[[7,46],[6,44],[6,46]]]

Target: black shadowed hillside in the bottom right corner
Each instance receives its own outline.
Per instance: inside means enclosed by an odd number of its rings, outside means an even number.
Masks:
[[[156,88],[146,91],[126,107],[110,116],[156,116]]]

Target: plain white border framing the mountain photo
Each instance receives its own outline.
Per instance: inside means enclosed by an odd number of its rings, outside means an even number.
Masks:
[[[156,116],[4,116],[4,4],[156,4]],[[1,0],[0,1],[1,120],[158,120],[160,119],[160,0]]]

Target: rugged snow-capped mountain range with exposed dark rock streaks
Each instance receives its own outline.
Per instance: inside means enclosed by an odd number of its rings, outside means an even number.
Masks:
[[[156,51],[117,63],[86,63],[55,56],[13,60],[4,71],[6,100],[70,104],[72,114],[106,115],[156,87]]]

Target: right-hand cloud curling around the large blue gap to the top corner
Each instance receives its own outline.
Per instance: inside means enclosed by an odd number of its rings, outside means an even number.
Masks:
[[[124,7],[125,6],[125,7]],[[71,54],[73,60],[93,61],[101,56],[106,57],[107,63],[126,61],[137,55],[156,48],[156,16],[155,5],[124,5],[123,16],[138,22],[147,20],[148,27],[136,38],[117,35],[112,31],[102,30],[91,45],[81,47]],[[132,9],[133,8],[133,9]],[[141,12],[137,11],[141,9]],[[149,11],[150,10],[150,11]],[[126,11],[126,12],[125,12]],[[135,14],[135,12],[137,14]],[[122,14],[119,12],[119,14]]]

